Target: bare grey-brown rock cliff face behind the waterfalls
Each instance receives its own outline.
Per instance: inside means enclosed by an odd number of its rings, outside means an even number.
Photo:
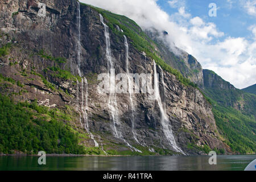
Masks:
[[[9,45],[8,53],[0,57],[0,73],[22,84],[1,82],[1,93],[15,101],[71,108],[73,128],[89,134],[81,141],[84,146],[201,154],[208,145],[229,152],[203,94],[158,65],[154,70],[154,60],[138,51],[129,36],[126,45],[119,28],[106,30],[104,23],[109,20],[103,17],[103,23],[92,7],[75,0],[4,0],[0,10],[0,43]],[[160,100],[150,99],[148,93],[110,96],[97,91],[97,76],[110,68],[108,41],[115,73],[127,73],[128,60],[130,73],[151,73],[152,80],[155,73],[160,75],[159,82],[152,83],[159,89]],[[192,56],[185,61],[199,68]]]

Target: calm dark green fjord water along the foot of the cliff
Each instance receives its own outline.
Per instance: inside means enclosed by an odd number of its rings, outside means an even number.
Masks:
[[[209,165],[209,156],[47,156],[46,165],[37,156],[0,156],[0,171],[5,170],[243,170],[256,155],[217,156],[217,165]]]

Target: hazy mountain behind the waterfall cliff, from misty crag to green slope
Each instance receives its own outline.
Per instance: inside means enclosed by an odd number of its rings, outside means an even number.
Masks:
[[[242,154],[255,152],[255,95],[243,92],[213,71],[203,69],[195,57],[175,45],[170,47],[166,41],[168,34],[163,36],[154,28],[146,33],[156,43],[162,59],[194,82],[212,104],[217,129],[224,142]]]

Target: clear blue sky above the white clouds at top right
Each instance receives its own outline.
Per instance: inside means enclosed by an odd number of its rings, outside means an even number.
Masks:
[[[158,5],[166,11],[168,14],[174,14],[178,12],[178,9],[171,7],[166,0],[157,1]],[[216,3],[217,5],[217,17],[210,17],[209,3]],[[226,36],[239,37],[243,36],[248,39],[252,38],[251,31],[245,27],[249,27],[255,24],[255,16],[251,16],[246,13],[246,9],[243,8],[242,3],[244,1],[201,1],[192,0],[185,1],[185,8],[187,12],[192,16],[199,16],[205,22],[213,22],[217,25],[218,29],[225,32]],[[241,26],[242,25],[242,26]]]

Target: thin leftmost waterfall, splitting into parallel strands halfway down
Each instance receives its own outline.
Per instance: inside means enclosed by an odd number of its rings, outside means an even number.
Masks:
[[[77,41],[77,71],[79,72],[79,76],[82,77],[81,74],[81,12],[80,12],[80,3],[77,2],[77,30],[78,30],[78,41]],[[84,95],[84,84],[85,84],[85,95]],[[82,119],[84,120],[84,127],[86,132],[90,135],[90,138],[93,139],[95,147],[98,147],[98,143],[94,139],[94,135],[90,133],[89,131],[89,123],[88,123],[88,83],[86,78],[82,78],[81,83],[81,107],[80,110],[82,112],[82,115],[80,113],[80,123],[82,125]],[[84,100],[85,100],[85,106],[84,106]],[[79,81],[77,80],[77,105],[79,103]]]

